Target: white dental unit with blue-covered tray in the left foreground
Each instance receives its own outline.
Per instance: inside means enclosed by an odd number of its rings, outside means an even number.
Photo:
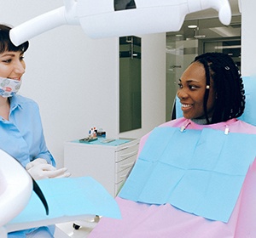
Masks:
[[[91,214],[120,218],[113,197],[93,178],[48,178],[36,184],[44,194],[46,206],[33,192],[35,183],[26,169],[0,150],[1,238],[12,231],[86,219]],[[56,227],[55,238],[58,237],[69,236]]]

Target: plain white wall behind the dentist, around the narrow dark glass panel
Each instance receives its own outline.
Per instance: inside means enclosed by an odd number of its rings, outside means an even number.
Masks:
[[[0,22],[17,26],[63,5],[61,0],[0,0]],[[143,36],[141,137],[165,121],[165,34]],[[119,136],[119,39],[93,40],[80,26],[61,26],[34,37],[25,54],[20,94],[38,102],[49,150],[63,166],[63,142],[103,127]]]

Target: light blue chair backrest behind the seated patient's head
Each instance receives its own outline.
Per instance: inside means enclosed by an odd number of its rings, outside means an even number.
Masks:
[[[256,77],[243,77],[242,79],[245,88],[246,107],[238,119],[256,126]],[[183,116],[183,112],[179,99],[176,97],[175,100],[176,118],[179,118]]]

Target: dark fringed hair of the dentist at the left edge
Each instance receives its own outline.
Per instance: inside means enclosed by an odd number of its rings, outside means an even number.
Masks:
[[[10,30],[11,27],[0,24],[0,54],[2,54],[4,51],[25,52],[29,46],[29,43],[24,42],[19,46],[15,46],[9,38]]]

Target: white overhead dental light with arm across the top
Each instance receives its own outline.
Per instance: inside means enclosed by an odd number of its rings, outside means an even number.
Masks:
[[[179,31],[186,14],[214,8],[224,25],[231,20],[228,0],[64,0],[64,6],[10,31],[15,45],[62,25],[80,25],[92,38]]]

